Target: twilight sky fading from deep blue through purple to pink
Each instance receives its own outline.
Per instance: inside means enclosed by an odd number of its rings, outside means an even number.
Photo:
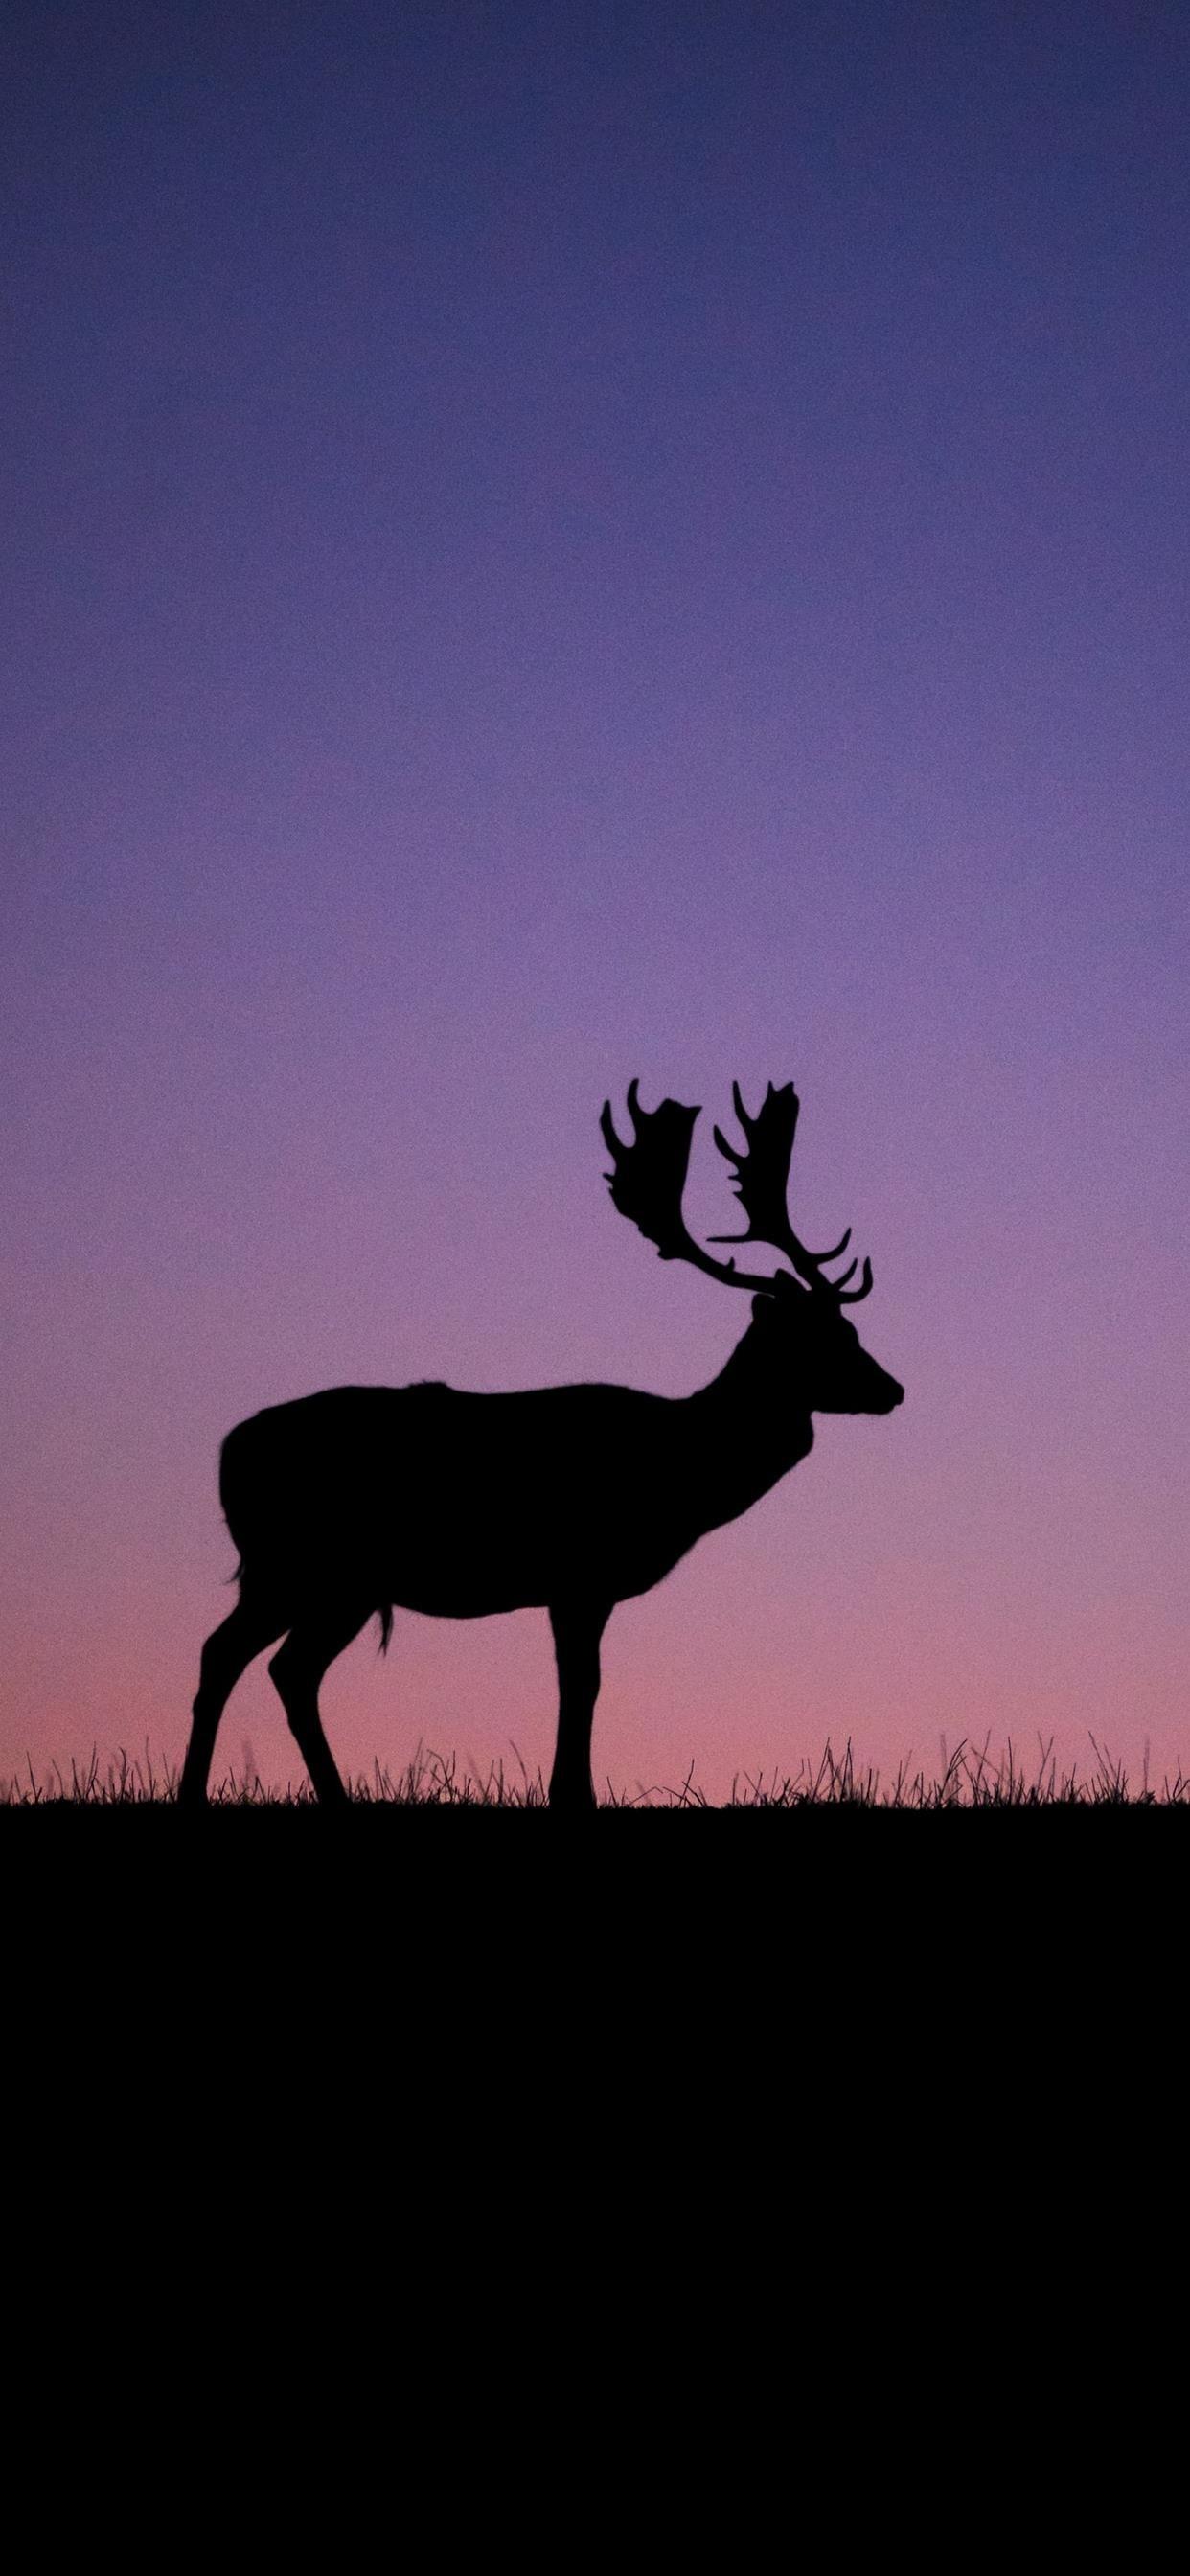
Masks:
[[[1187,10],[15,0],[0,95],[0,1775],[180,1759],[260,1404],[716,1373],[634,1074],[706,1226],[798,1082],[907,1404],[616,1613],[595,1777],[1190,1762]],[[325,1716],[549,1770],[546,1618]]]

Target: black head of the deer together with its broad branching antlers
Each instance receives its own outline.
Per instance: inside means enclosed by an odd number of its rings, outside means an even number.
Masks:
[[[683,1216],[685,1175],[698,1108],[680,1100],[662,1100],[657,1110],[641,1110],[639,1084],[628,1084],[631,1144],[621,1144],[610,1100],[603,1103],[600,1131],[613,1157],[605,1175],[613,1208],[628,1216],[639,1231],[657,1244],[662,1262],[693,1262],[706,1278],[726,1288],[752,1291],[752,1324],[765,1334],[773,1355],[783,1358],[796,1376],[811,1412],[832,1414],[889,1414],[902,1404],[904,1386],[896,1383],[863,1350],[845,1306],[858,1306],[871,1293],[871,1260],[863,1262],[860,1285],[850,1288],[858,1260],[842,1278],[827,1278],[827,1262],[842,1257],[850,1244],[850,1226],[829,1252],[809,1252],[788,1216],[788,1167],[798,1123],[798,1095],[791,1082],[778,1092],[768,1084],[755,1118],[732,1084],[734,1113],[744,1131],[744,1146],[726,1141],[713,1128],[719,1151],[734,1167],[732,1185],[747,1216],[742,1234],[713,1234],[716,1244],[768,1244],[793,1265],[770,1275],[737,1270],[734,1260],[719,1262],[693,1239]]]

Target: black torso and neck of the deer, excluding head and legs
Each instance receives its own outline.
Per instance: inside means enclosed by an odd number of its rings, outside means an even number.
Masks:
[[[652,1592],[811,1448],[809,1412],[775,1417],[742,1365],[752,1340],[695,1396],[332,1386],[252,1414],[219,1476],[245,1579],[294,1615],[330,1569],[430,1618],[549,1610],[574,1566],[605,1602]]]

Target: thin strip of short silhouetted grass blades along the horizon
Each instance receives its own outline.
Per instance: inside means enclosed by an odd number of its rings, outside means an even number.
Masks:
[[[943,1744],[943,1772],[927,1777],[925,1770],[909,1770],[902,1765],[896,1775],[881,1783],[878,1770],[863,1770],[855,1765],[853,1744],[847,1741],[842,1754],[835,1754],[827,1741],[817,1765],[801,1762],[796,1772],[773,1772],[752,1777],[742,1772],[732,1783],[732,1795],[713,1803],[706,1798],[693,1780],[693,1765],[680,1783],[680,1788],[644,1785],[636,1790],[613,1790],[610,1785],[600,1793],[600,1808],[647,1808],[654,1814],[690,1811],[726,1814],[729,1808],[822,1808],[822,1806],[847,1806],[847,1808],[873,1808],[873,1811],[909,1811],[909,1814],[940,1814],[953,1808],[1053,1808],[1053,1806],[1185,1806],[1190,1811],[1190,1777],[1177,1767],[1162,1785],[1149,1783],[1149,1752],[1144,1754],[1141,1783],[1133,1788],[1123,1762],[1113,1759],[1095,1736],[1095,1770],[1082,1775],[1077,1770],[1061,1772],[1051,1744],[1041,1747],[1041,1759],[1035,1770],[1025,1770],[1017,1759],[1012,1744],[992,1759],[989,1741],[984,1747],[971,1747],[966,1739],[956,1744],[948,1754]],[[348,1790],[353,1806],[384,1806],[384,1808],[546,1808],[546,1783],[541,1772],[528,1775],[520,1765],[520,1777],[507,1777],[505,1765],[495,1762],[484,1777],[458,1770],[456,1754],[435,1754],[425,1747],[417,1749],[412,1762],[402,1772],[392,1772],[376,1762],[371,1775],[348,1775]],[[0,1785],[0,1806],[5,1808],[167,1808],[178,1795],[178,1770],[152,1762],[152,1754],[131,1757],[126,1752],[108,1762],[106,1770],[98,1765],[98,1754],[90,1757],[88,1767],[70,1765],[70,1775],[54,1762],[46,1780],[36,1780],[28,1765],[26,1780],[13,1777]],[[265,1783],[252,1772],[234,1777],[224,1772],[219,1783],[211,1785],[214,1808],[312,1808],[317,1811],[317,1798],[307,1783],[296,1788],[265,1788]]]

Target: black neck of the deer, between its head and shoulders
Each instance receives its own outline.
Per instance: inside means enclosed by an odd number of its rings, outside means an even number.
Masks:
[[[788,1363],[775,1373],[770,1337],[755,1324],[719,1378],[688,1396],[685,1406],[693,1432],[690,1481],[711,1515],[706,1528],[747,1512],[814,1448],[809,1396],[791,1381]]]

